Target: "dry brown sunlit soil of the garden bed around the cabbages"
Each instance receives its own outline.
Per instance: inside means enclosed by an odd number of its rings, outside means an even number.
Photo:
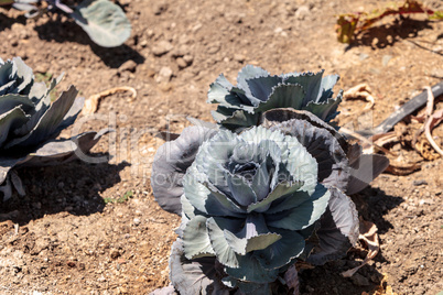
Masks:
[[[273,74],[324,68],[341,75],[337,89],[367,83],[376,98],[371,111],[360,113],[363,100],[341,107],[338,121],[355,129],[380,123],[423,86],[443,79],[442,22],[392,18],[352,46],[336,41],[336,14],[369,11],[380,1],[118,3],[132,34],[117,48],[93,44],[65,17],[26,20],[0,9],[3,59],[21,56],[41,79],[65,72],[58,92],[72,84],[85,97],[118,86],[138,91],[133,101],[129,92],[104,98],[95,116],[74,127],[116,129],[93,150],[109,163],[19,171],[26,196],[0,204],[0,294],[148,294],[169,284],[180,218],[160,209],[151,193],[151,162],[163,144],[155,134],[181,132],[186,116],[212,121],[215,106],[206,94],[220,73],[234,83],[246,64]],[[441,1],[428,4],[443,9]],[[442,143],[442,125],[434,135]],[[341,272],[358,265],[365,252],[304,270],[302,294],[370,294],[383,276],[398,294],[443,289],[443,160],[424,161],[400,143],[390,149],[419,159],[421,170],[382,174],[353,196],[361,217],[379,228],[380,253],[352,278]]]

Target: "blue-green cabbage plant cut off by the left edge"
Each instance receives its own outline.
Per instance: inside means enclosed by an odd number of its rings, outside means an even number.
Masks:
[[[0,192],[3,199],[12,187],[24,195],[15,168],[64,163],[88,152],[108,132],[85,132],[71,139],[55,140],[74,123],[84,98],[71,86],[54,102],[50,94],[62,77],[46,88],[36,83],[32,69],[20,57],[0,59]]]

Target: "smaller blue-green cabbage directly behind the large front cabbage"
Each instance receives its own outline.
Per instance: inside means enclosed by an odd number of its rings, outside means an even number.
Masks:
[[[237,86],[222,74],[208,91],[208,102],[218,103],[213,117],[234,131],[259,124],[261,114],[275,108],[306,110],[329,122],[338,114],[342,91],[333,98],[338,75],[323,77],[323,73],[270,75],[247,65],[238,73]]]

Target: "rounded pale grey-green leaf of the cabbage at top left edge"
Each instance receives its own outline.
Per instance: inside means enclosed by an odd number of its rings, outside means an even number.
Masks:
[[[131,34],[125,12],[108,0],[85,0],[71,15],[95,43],[104,47],[120,46]]]

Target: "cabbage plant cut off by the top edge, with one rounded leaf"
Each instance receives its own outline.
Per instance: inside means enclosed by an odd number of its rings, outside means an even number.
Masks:
[[[46,2],[45,8],[39,7],[41,2]],[[26,11],[28,18],[39,17],[46,11],[63,11],[102,47],[120,46],[131,34],[131,23],[123,10],[108,0],[84,0],[74,8],[61,0],[0,0],[0,6],[6,4]]]

